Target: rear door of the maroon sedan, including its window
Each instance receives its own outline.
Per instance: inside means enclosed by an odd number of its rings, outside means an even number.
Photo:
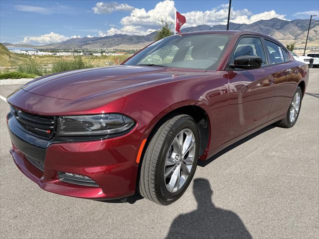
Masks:
[[[268,116],[268,120],[272,120],[287,113],[300,79],[300,62],[291,61],[286,49],[270,39],[264,39],[264,45],[271,66],[269,71],[276,74],[275,94]]]

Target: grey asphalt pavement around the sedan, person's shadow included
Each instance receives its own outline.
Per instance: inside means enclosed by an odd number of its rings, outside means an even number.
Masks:
[[[0,238],[319,238],[319,69],[310,77],[293,128],[268,126],[224,150],[167,207],[41,190],[8,153],[0,100]],[[1,86],[0,95],[16,87]]]

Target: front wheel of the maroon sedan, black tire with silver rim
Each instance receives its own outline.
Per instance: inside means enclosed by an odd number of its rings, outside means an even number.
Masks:
[[[188,142],[192,145],[184,157],[183,152],[180,152],[181,141],[178,141],[181,139],[185,140],[185,145]],[[183,195],[194,176],[198,148],[199,134],[193,118],[178,115],[165,121],[145,151],[138,187],[140,194],[160,205],[175,202]],[[177,175],[180,176],[178,181],[175,180]]]

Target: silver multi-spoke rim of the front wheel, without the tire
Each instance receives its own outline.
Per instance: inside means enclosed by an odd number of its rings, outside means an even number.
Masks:
[[[185,128],[175,136],[166,156],[164,183],[168,192],[176,192],[184,185],[193,167],[194,155],[195,137]]]

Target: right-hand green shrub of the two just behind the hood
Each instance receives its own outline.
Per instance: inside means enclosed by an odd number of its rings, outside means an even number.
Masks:
[[[82,57],[75,57],[71,60],[59,59],[53,63],[52,72],[71,71],[93,67],[82,60]]]

